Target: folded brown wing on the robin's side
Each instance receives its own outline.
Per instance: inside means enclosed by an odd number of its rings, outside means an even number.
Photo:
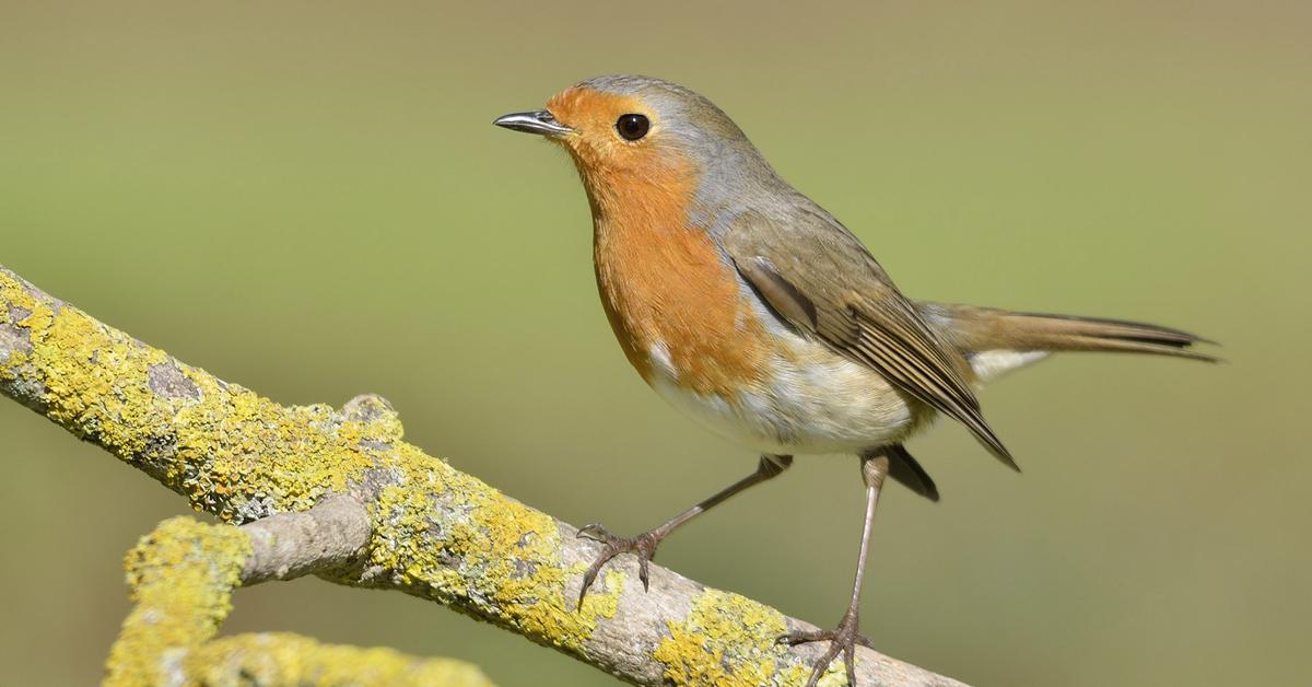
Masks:
[[[739,273],[781,317],[960,420],[1017,469],[980,412],[966,380],[966,360],[934,334],[870,251],[836,219],[810,208],[786,218],[748,211],[723,239]]]

